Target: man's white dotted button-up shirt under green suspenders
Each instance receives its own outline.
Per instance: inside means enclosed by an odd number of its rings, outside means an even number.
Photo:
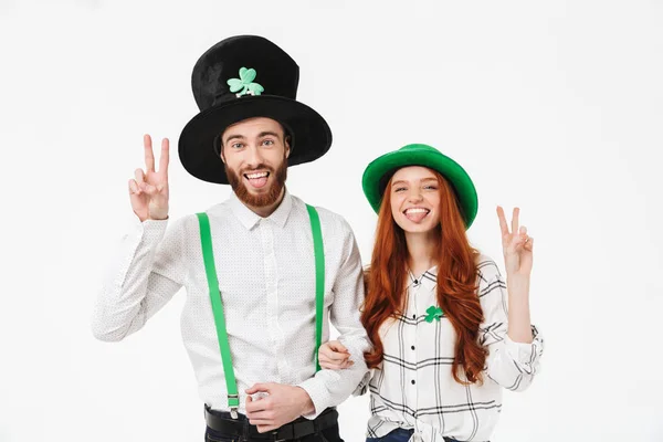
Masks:
[[[316,411],[306,418],[313,419],[344,401],[367,372],[362,352],[369,344],[359,320],[364,285],[355,236],[340,215],[317,210],[326,270],[323,343],[330,319],[355,360],[351,369],[317,373],[315,260],[305,203],[286,191],[276,211],[261,218],[233,193],[207,211],[242,413],[245,389],[278,382],[308,392]],[[213,409],[228,411],[198,219],[185,217],[168,230],[167,223],[137,222],[124,238],[95,305],[93,333],[103,340],[123,339],[185,286],[181,333],[199,396]]]

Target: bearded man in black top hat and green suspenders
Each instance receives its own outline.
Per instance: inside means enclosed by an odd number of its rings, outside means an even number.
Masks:
[[[341,441],[334,407],[367,372],[354,234],[285,188],[288,164],[332,144],[324,118],[295,99],[297,83],[296,63],[259,36],[223,40],[200,57],[192,86],[201,112],[182,130],[179,156],[191,175],[233,193],[167,231],[169,144],[157,170],[146,135],[146,169],[129,181],[140,223],[95,307],[94,335],[120,340],[186,286],[182,338],[209,441]],[[328,319],[354,366],[316,372]]]

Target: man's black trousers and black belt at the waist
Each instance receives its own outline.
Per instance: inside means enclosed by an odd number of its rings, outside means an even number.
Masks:
[[[249,419],[243,414],[240,414],[239,419],[232,419],[230,413],[211,410],[208,404],[204,406],[204,420],[210,429],[229,436],[288,441],[315,434],[336,425],[338,423],[338,411],[328,408],[314,420],[299,418],[266,433],[259,433],[257,427],[249,423]]]

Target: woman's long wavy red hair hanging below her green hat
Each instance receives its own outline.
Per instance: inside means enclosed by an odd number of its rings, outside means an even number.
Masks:
[[[438,304],[451,322],[456,341],[452,365],[456,382],[482,382],[487,351],[478,344],[483,311],[476,293],[476,256],[465,234],[465,222],[451,185],[436,171],[440,183],[440,225],[436,234]],[[385,320],[403,313],[408,273],[408,246],[403,230],[391,214],[391,179],[386,187],[376,229],[370,269],[366,272],[366,299],[361,323],[373,349],[365,355],[370,368],[382,361],[379,329]],[[464,378],[462,375],[464,373]]]

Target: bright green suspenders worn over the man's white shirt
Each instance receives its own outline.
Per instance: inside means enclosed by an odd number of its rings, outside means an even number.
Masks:
[[[323,309],[325,301],[325,253],[323,246],[323,234],[320,230],[320,219],[313,206],[306,204],[308,217],[311,219],[311,230],[313,233],[313,249],[315,253],[315,369],[320,369],[317,352],[323,339]],[[210,231],[210,220],[207,213],[197,213],[200,225],[200,242],[202,245],[202,257],[204,270],[210,290],[210,301],[217,325],[217,337],[219,339],[219,349],[223,361],[223,373],[225,375],[225,387],[228,390],[228,407],[232,418],[238,418],[238,408],[240,407],[240,396],[238,393],[238,383],[232,368],[232,357],[228,344],[228,333],[225,330],[225,316],[223,314],[223,303],[221,292],[219,291],[219,280],[217,277],[217,266],[214,264],[214,254],[212,250],[212,234]]]

